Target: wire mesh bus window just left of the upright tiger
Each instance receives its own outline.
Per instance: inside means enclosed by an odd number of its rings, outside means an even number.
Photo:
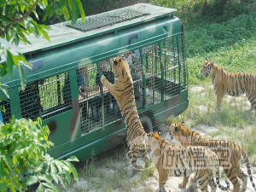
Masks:
[[[98,65],[101,74],[110,83],[114,83],[110,59],[100,61],[98,64],[91,64],[88,67],[81,67],[77,70],[82,135],[96,131],[104,125],[113,123],[121,118],[117,102],[106,87],[100,86],[101,79]]]

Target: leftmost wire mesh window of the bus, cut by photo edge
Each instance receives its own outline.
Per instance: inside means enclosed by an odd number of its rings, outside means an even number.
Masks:
[[[9,96],[12,94],[11,90],[8,90],[8,94]],[[4,97],[5,95],[1,91],[1,98],[4,98]],[[3,99],[3,101],[0,102],[0,107],[1,107],[1,113],[2,113],[0,114],[0,119],[3,123],[8,123],[9,119],[12,117],[9,99]]]

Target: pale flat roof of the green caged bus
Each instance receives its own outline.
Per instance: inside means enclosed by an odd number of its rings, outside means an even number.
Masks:
[[[123,12],[124,14],[121,14]],[[87,16],[83,24],[81,20],[78,20],[77,24],[71,27],[71,21],[51,25],[52,30],[48,32],[50,42],[44,36],[36,38],[32,35],[28,37],[32,44],[26,45],[20,42],[18,46],[15,46],[15,44],[11,44],[11,42],[7,42],[5,39],[0,39],[0,44],[22,54],[35,53],[73,44],[84,39],[95,38],[96,36],[115,32],[126,27],[136,26],[143,22],[173,15],[175,12],[177,12],[177,9],[138,3],[123,9],[115,9],[102,14]],[[89,27],[89,30],[83,31],[83,27],[86,26],[91,26],[91,28]]]

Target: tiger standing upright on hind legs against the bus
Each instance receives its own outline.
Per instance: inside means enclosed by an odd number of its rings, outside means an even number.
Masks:
[[[125,120],[132,176],[137,168],[137,154],[139,151],[143,155],[146,166],[148,166],[147,148],[144,143],[144,137],[147,133],[144,131],[137,113],[133,81],[128,64],[125,63],[123,58],[115,57],[112,61],[112,71],[115,75],[113,84],[109,83],[104,75],[102,75],[101,80],[102,84],[108,88],[118,102],[120,112]]]

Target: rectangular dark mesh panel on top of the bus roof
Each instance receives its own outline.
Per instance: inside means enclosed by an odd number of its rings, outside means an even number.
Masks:
[[[143,15],[149,15],[149,13],[142,10],[125,8],[86,17],[84,23],[79,19],[73,26],[71,25],[71,21],[68,21],[64,23],[64,26],[71,27],[81,32],[88,32],[103,26],[111,26],[125,20],[142,17]]]

